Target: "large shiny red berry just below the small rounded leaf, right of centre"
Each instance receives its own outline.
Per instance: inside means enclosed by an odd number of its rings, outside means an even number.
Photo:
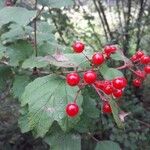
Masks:
[[[123,77],[118,77],[112,81],[112,84],[116,89],[122,89],[127,85],[127,80]]]

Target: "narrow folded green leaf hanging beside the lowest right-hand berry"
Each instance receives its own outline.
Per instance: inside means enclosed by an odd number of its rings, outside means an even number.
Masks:
[[[119,118],[119,107],[118,107],[117,103],[115,102],[114,99],[111,99],[111,100],[109,100],[109,104],[112,109],[112,114],[113,114],[113,117],[114,117],[114,120],[115,120],[117,126],[119,128],[124,128],[124,124],[121,121],[121,119]]]

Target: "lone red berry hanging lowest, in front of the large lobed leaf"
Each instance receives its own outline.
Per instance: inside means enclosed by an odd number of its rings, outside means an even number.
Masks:
[[[66,106],[66,113],[69,117],[75,117],[79,112],[79,106],[76,103],[69,103]]]

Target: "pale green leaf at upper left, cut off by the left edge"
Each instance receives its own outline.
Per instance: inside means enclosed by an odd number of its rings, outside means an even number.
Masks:
[[[0,27],[10,22],[25,26],[29,24],[35,16],[36,11],[29,11],[22,7],[5,7],[0,10]]]

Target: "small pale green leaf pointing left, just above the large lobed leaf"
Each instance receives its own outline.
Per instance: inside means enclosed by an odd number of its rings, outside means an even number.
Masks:
[[[27,69],[33,69],[34,67],[37,68],[43,68],[46,67],[49,63],[44,60],[43,57],[31,57],[29,59],[26,59],[23,64],[22,68]]]

